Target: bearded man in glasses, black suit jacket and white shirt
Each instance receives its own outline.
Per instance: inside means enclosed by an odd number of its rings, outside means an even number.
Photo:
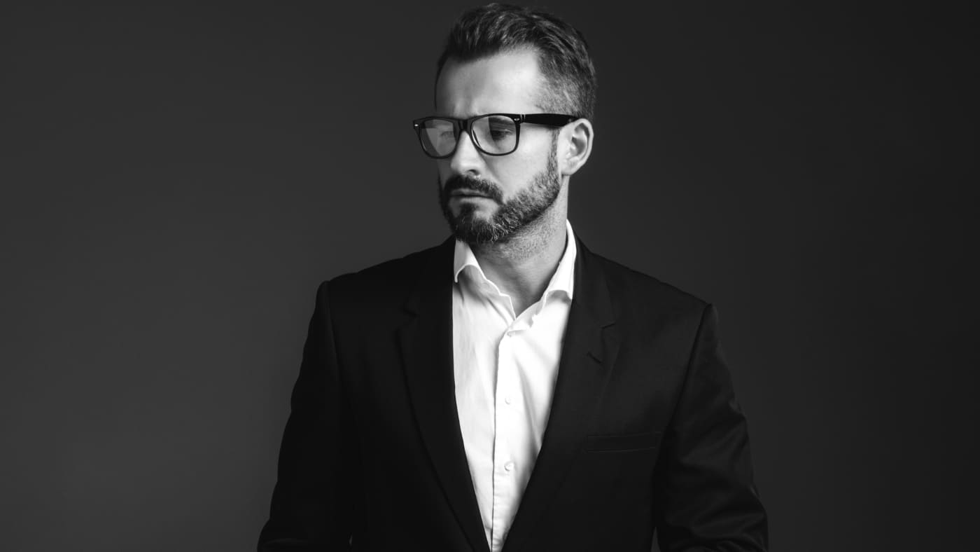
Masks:
[[[453,27],[415,126],[456,239],[320,285],[260,550],[765,549],[713,308],[566,220],[594,98],[564,22]]]

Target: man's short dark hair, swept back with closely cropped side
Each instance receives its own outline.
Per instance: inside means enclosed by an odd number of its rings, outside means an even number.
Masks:
[[[548,81],[543,107],[591,120],[597,81],[585,36],[534,8],[494,3],[466,11],[446,37],[436,80],[450,58],[466,62],[528,47],[537,51],[541,73]]]

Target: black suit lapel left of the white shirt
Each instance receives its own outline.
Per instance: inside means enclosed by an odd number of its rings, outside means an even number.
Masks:
[[[453,239],[423,269],[399,331],[406,380],[422,440],[472,550],[488,552],[466,462],[453,376]]]

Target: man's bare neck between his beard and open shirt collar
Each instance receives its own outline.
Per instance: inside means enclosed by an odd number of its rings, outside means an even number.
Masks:
[[[567,239],[565,211],[550,209],[507,241],[470,245],[483,274],[511,296],[516,315],[541,298]]]

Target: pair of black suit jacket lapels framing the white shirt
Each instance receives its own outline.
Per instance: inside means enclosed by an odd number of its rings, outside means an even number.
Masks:
[[[453,238],[437,247],[405,303],[399,331],[413,410],[443,493],[474,551],[488,552],[466,462],[453,378]],[[581,450],[618,351],[613,301],[601,260],[576,238],[575,293],[541,451],[505,550],[519,549]]]

